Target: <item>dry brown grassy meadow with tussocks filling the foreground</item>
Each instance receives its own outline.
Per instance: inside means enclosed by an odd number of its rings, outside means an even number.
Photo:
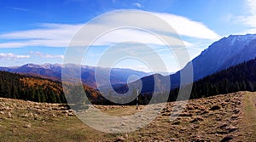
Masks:
[[[169,120],[175,113],[171,102],[147,127],[114,134],[86,126],[66,105],[0,99],[0,141],[254,141],[255,101],[252,92],[191,99],[173,122]],[[112,116],[137,112],[130,105],[97,108]]]

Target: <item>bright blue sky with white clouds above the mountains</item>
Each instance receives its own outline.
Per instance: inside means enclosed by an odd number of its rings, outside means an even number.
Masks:
[[[102,14],[127,9],[142,10],[166,21],[183,40],[190,60],[222,37],[256,33],[255,0],[0,0],[0,66],[62,64],[69,43],[84,24]],[[98,29],[118,20],[121,17],[113,14],[91,27]],[[166,69],[157,71],[174,72],[183,67],[168,47],[137,29],[113,30],[102,35],[84,54],[81,64],[98,65],[108,48],[126,41],[153,48],[166,65]],[[126,51],[139,52],[138,45],[141,44],[131,43]],[[116,61],[111,67],[150,71],[150,65],[134,59]]]

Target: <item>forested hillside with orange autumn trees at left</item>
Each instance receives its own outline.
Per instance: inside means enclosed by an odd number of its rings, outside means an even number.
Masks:
[[[69,85],[75,86],[72,83]],[[97,100],[100,96],[94,88],[86,85],[84,85],[84,91],[93,100]],[[7,71],[0,71],[0,97],[36,102],[67,103],[61,82],[42,77],[27,77]]]

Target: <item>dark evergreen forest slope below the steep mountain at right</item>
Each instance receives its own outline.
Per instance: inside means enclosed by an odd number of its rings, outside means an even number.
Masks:
[[[190,99],[237,91],[256,90],[256,58],[218,71],[193,83]],[[172,89],[169,101],[176,100],[178,89]]]

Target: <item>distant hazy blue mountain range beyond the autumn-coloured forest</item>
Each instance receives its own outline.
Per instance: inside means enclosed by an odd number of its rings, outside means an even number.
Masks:
[[[75,77],[74,72],[79,70],[81,67],[81,76]],[[137,76],[138,78],[145,77],[148,73],[143,71],[135,71],[131,69],[121,69],[121,68],[113,68],[109,70],[109,68],[103,67],[95,67],[88,65],[60,65],[60,64],[44,64],[44,65],[36,65],[36,64],[26,64],[21,66],[13,66],[13,67],[0,67],[0,71],[9,71],[14,73],[20,73],[27,76],[32,77],[44,77],[51,80],[61,81],[61,68],[65,68],[67,72],[66,76],[69,79],[68,81],[73,82],[75,79],[79,79],[81,77],[81,81],[92,88],[100,87],[108,83],[109,71],[110,71],[110,82],[111,84],[118,83],[126,83],[131,75]],[[97,76],[100,80],[96,84],[95,71],[97,71]],[[130,80],[130,82],[136,80]]]

